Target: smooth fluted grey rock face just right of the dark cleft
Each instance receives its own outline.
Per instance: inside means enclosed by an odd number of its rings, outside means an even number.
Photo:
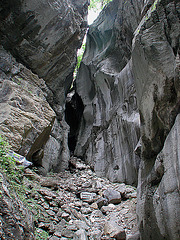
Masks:
[[[84,104],[75,154],[99,176],[137,184],[139,113],[132,73],[131,42],[143,1],[110,3],[87,34],[76,80]]]

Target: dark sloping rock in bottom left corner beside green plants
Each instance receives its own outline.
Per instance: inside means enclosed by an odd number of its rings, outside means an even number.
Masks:
[[[33,214],[0,173],[0,239],[34,240]]]

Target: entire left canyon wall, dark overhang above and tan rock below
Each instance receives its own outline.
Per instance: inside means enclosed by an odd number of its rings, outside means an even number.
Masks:
[[[65,95],[87,8],[86,0],[0,3],[1,134],[44,174],[68,167]]]

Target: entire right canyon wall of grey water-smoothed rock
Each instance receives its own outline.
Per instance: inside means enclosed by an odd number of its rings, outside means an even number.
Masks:
[[[89,28],[76,80],[75,154],[111,181],[136,184],[139,169],[146,240],[180,238],[179,9],[173,0],[110,3]]]

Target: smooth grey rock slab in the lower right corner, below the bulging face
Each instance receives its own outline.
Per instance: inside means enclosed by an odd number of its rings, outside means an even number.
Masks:
[[[137,213],[142,239],[180,237],[179,138],[180,114],[153,167],[141,164]],[[148,176],[144,174],[147,169]]]

